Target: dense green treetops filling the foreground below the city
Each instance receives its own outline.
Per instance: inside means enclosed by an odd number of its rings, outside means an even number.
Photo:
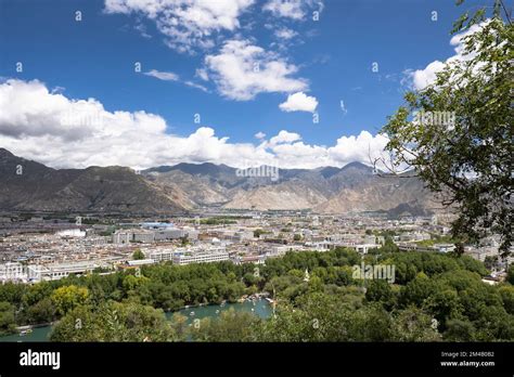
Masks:
[[[514,287],[481,282],[479,261],[436,252],[350,249],[287,252],[266,265],[143,266],[34,285],[0,286],[0,326],[57,320],[60,341],[513,340]],[[352,266],[394,264],[395,282],[355,278]],[[309,278],[305,278],[305,271]],[[187,326],[164,311],[268,291],[274,315],[222,312]]]

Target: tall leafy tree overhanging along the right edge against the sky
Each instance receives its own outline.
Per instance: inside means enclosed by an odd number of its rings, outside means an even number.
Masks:
[[[426,88],[404,95],[406,105],[383,128],[390,160],[375,162],[394,172],[414,170],[445,206],[459,208],[453,237],[476,242],[499,234],[505,256],[514,220],[514,29],[500,12],[494,0],[491,18],[484,8],[455,23],[453,32],[466,31],[458,37],[463,57],[448,62]]]

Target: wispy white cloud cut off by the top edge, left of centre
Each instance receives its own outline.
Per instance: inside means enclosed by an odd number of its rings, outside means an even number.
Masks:
[[[214,46],[216,32],[240,27],[239,17],[254,0],[105,0],[105,12],[139,14],[155,22],[179,52]]]

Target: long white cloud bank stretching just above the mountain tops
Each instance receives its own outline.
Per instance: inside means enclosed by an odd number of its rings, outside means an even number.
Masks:
[[[38,80],[11,79],[0,83],[0,147],[55,168],[129,166],[149,168],[179,162],[226,164],[242,167],[342,167],[354,160],[369,162],[387,139],[362,131],[342,136],[333,146],[309,145],[286,130],[259,144],[230,143],[210,127],[190,135],[168,133],[166,120],[145,112],[107,112],[94,99],[75,100],[52,93]]]

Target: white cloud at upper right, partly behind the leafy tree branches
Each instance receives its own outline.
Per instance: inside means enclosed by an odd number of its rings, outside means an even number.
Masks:
[[[435,82],[437,74],[441,72],[447,64],[453,64],[463,61],[467,61],[475,56],[474,53],[465,54],[463,38],[466,36],[477,32],[488,22],[484,22],[480,25],[473,25],[468,30],[453,36],[450,40],[450,44],[454,47],[455,54],[448,57],[445,62],[434,61],[429,63],[424,69],[407,69],[403,74],[412,80],[412,87],[416,90],[423,90],[427,86]]]

